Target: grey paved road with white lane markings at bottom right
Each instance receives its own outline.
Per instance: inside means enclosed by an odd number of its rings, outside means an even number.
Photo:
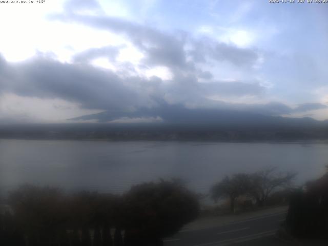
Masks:
[[[270,237],[276,233],[285,216],[286,212],[279,212],[208,229],[181,231],[172,238],[165,239],[164,245],[223,246]]]

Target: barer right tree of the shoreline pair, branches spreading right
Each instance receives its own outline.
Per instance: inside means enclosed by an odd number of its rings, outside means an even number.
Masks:
[[[273,190],[289,187],[295,176],[294,172],[277,172],[276,167],[263,169],[250,175],[249,194],[262,207]]]

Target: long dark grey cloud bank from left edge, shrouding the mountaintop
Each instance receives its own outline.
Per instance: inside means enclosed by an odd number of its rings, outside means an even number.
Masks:
[[[81,117],[110,121],[121,117],[161,117],[167,122],[218,119],[222,110],[266,115],[291,114],[323,108],[304,104],[293,109],[284,104],[229,104],[208,96],[260,95],[264,88],[257,83],[213,81],[199,83],[196,76],[179,74],[178,83],[166,84],[160,78],[121,78],[113,72],[87,64],[63,64],[38,56],[20,63],[0,59],[0,90],[20,96],[61,98],[83,108],[106,110],[106,113]],[[190,108],[192,105],[192,108]],[[192,122],[191,122],[192,123]]]

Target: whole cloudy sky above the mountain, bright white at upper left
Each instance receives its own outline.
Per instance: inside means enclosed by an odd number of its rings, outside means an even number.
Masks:
[[[0,3],[0,36],[2,123],[328,118],[328,3]]]

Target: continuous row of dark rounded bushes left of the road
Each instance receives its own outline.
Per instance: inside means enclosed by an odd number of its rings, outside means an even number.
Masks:
[[[196,195],[175,180],[137,185],[121,196],[25,185],[9,204],[12,212],[0,215],[0,245],[162,245],[199,213]]]

